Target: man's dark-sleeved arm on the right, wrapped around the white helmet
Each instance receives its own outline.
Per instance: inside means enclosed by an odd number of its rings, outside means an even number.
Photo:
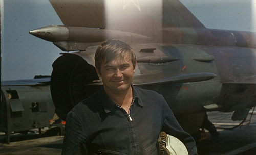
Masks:
[[[164,111],[165,119],[163,122],[162,131],[178,138],[186,146],[189,155],[197,154],[197,147],[196,147],[195,140],[190,134],[183,131],[182,127],[174,117],[172,110],[169,108],[164,98],[163,98],[163,103],[164,103],[163,111]]]

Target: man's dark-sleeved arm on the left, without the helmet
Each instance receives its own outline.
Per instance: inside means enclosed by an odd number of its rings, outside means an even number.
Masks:
[[[62,155],[88,154],[85,145],[86,139],[80,119],[74,114],[74,112],[69,112],[65,125]]]

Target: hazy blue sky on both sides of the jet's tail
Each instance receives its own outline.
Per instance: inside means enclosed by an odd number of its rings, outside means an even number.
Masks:
[[[62,51],[28,32],[63,25],[48,0],[1,1],[2,81],[51,75]],[[121,0],[120,0],[121,1]],[[256,0],[181,0],[206,28],[256,32]]]

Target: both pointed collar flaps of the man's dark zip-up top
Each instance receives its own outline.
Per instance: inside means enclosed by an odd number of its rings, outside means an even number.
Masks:
[[[133,99],[135,99],[134,102],[137,102],[140,106],[144,106],[143,102],[141,102],[140,97],[139,97],[139,92],[138,90],[132,86],[133,89]],[[105,90],[103,87],[99,90],[99,95],[100,99],[103,103],[103,107],[106,113],[109,113],[113,110],[114,106],[116,106],[115,102],[113,102],[110,97],[106,94]]]

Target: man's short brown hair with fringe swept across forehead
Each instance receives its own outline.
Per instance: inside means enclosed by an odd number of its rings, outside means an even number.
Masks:
[[[97,48],[94,56],[95,67],[100,72],[102,63],[107,64],[116,57],[123,60],[129,58],[132,60],[133,68],[135,68],[136,56],[131,46],[115,39],[108,39]]]

